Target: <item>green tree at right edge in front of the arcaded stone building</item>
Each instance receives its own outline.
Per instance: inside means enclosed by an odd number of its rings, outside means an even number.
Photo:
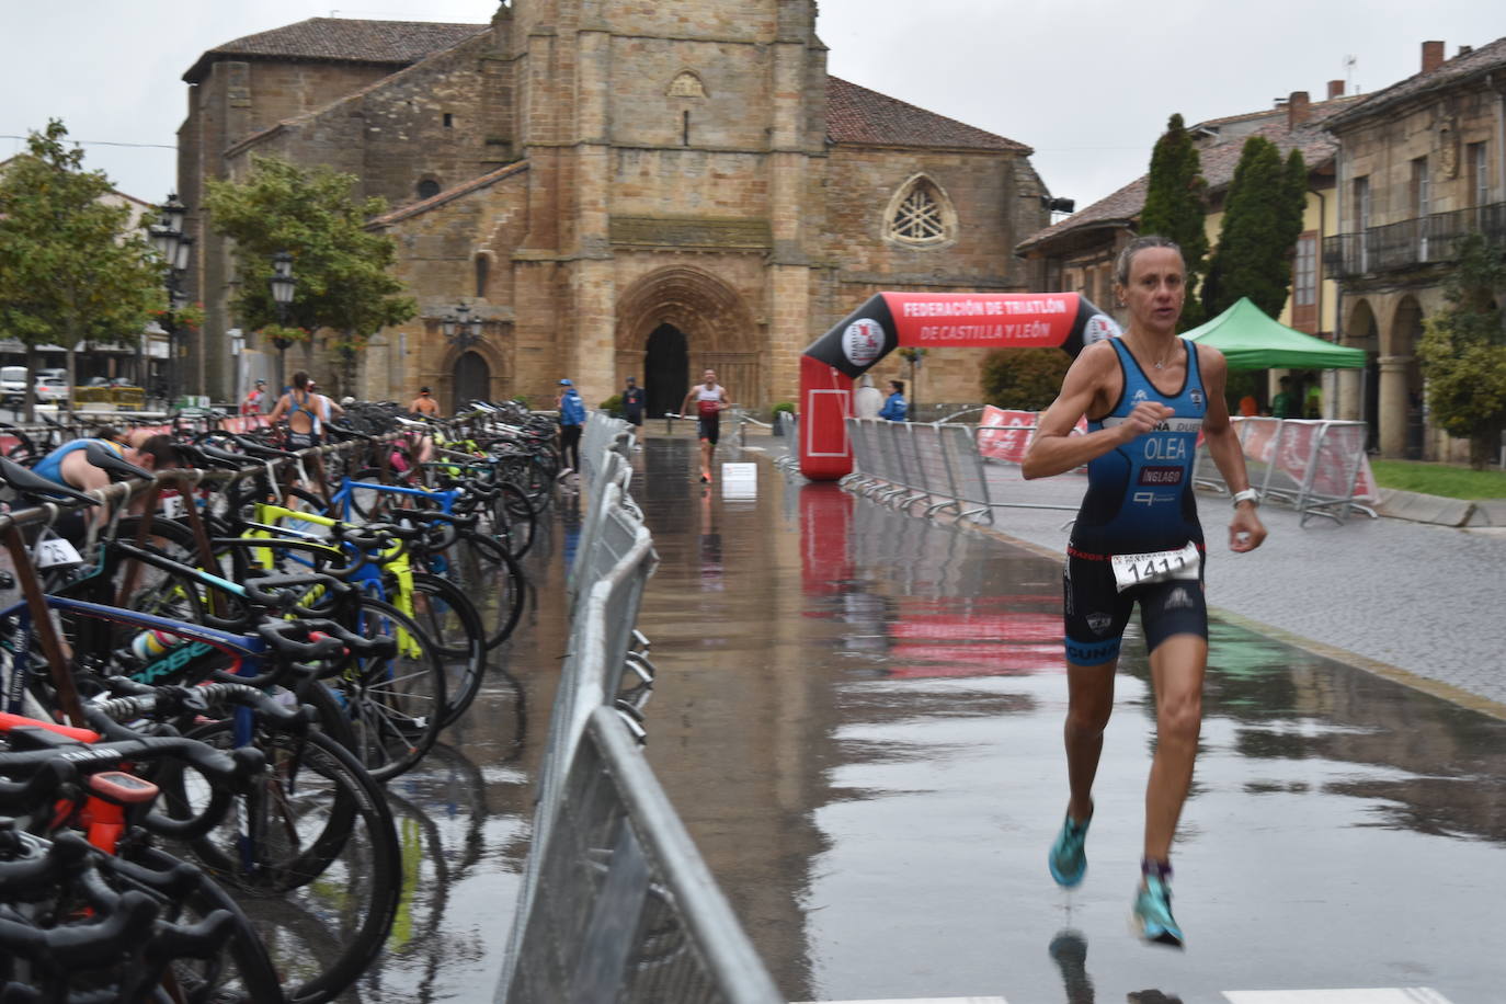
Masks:
[[[1506,291],[1506,251],[1470,233],[1444,280],[1449,301],[1423,322],[1417,343],[1428,409],[1444,432],[1470,440],[1470,465],[1483,468],[1506,429],[1506,331],[1495,294]]]

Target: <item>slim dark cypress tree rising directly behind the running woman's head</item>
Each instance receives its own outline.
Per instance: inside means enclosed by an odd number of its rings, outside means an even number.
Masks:
[[[1176,241],[1182,248],[1182,262],[1187,265],[1182,331],[1203,322],[1197,283],[1208,268],[1208,230],[1203,226],[1206,193],[1202,158],[1182,125],[1182,116],[1173,114],[1151,154],[1145,209],[1140,211],[1140,233],[1158,233]]]

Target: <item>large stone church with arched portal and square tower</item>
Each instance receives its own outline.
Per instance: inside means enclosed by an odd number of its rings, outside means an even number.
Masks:
[[[569,376],[595,405],[633,375],[657,414],[712,367],[762,406],[876,291],[1026,291],[1014,247],[1047,223],[1030,149],[830,77],[825,54],[813,0],[512,0],[489,26],[315,18],[205,53],[179,185],[206,385],[235,390],[235,319],[203,184],[253,155],[393,206],[370,226],[419,315],[373,334],[339,388],[363,397],[547,405]],[[479,342],[444,337],[459,306]],[[922,400],[977,400],[979,355],[928,357]],[[339,370],[318,343],[288,364]]]

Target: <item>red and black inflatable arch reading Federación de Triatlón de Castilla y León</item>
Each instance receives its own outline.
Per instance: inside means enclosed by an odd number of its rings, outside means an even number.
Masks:
[[[1059,348],[1119,334],[1078,294],[875,294],[800,358],[800,471],[831,482],[852,471],[852,381],[898,348]]]

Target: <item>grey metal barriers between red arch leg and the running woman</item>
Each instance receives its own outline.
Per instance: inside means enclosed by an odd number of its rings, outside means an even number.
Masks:
[[[995,509],[1060,509],[1077,506],[1020,503],[997,498],[977,452],[976,427],[848,418],[852,473],[842,486],[899,509],[925,504],[926,516],[992,522]]]

